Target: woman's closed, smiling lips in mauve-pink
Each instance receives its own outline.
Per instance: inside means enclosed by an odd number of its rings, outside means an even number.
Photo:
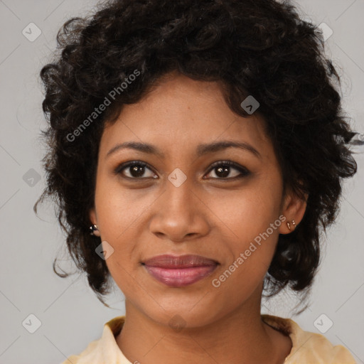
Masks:
[[[142,263],[146,271],[168,287],[185,287],[208,277],[218,262],[200,255],[158,255]]]

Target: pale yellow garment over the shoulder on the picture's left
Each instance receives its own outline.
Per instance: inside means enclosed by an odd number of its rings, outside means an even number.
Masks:
[[[122,329],[125,316],[118,316],[108,321],[104,325],[102,336],[91,341],[85,350],[78,355],[70,355],[61,364],[100,364],[100,363],[126,363],[129,361],[124,358],[117,346],[115,337]],[[119,360],[119,361],[117,361]]]

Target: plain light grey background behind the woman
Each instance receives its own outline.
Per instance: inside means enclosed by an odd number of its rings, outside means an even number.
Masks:
[[[124,314],[124,297],[116,289],[107,309],[77,274],[61,279],[53,273],[56,255],[73,269],[65,254],[64,237],[43,205],[39,218],[33,204],[44,187],[43,147],[39,131],[45,127],[43,95],[38,73],[50,60],[55,36],[71,16],[85,14],[94,0],[0,0],[0,363],[61,363],[100,338],[106,321]],[[333,35],[326,53],[342,77],[343,107],[353,127],[364,132],[364,0],[304,0],[304,18],[326,23]],[[22,31],[31,26],[28,38]],[[346,346],[364,363],[364,154],[357,149],[358,173],[345,183],[341,213],[323,240],[324,262],[311,294],[311,306],[292,316],[296,303],[287,293],[264,303],[264,313],[292,317],[306,331],[324,334],[333,344]],[[319,156],[318,156],[319,157]],[[287,300],[291,306],[286,307]],[[37,319],[41,326],[34,332]],[[321,316],[324,314],[325,316]],[[330,321],[329,321],[330,320]],[[333,326],[330,326],[331,321]],[[24,324],[22,324],[24,322]],[[28,323],[28,324],[27,324]],[[316,324],[315,324],[316,323]]]

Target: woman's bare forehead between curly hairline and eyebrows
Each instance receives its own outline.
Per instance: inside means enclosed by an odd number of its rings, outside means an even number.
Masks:
[[[259,114],[240,117],[232,112],[218,82],[172,73],[136,104],[123,105],[117,120],[105,127],[100,151],[130,140],[183,150],[219,139],[246,141],[272,153]]]

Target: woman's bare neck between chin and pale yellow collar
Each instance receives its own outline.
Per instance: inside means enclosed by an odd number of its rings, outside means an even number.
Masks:
[[[199,327],[163,325],[128,300],[125,317],[117,345],[131,363],[281,364],[291,350],[288,337],[263,323],[260,298]]]

